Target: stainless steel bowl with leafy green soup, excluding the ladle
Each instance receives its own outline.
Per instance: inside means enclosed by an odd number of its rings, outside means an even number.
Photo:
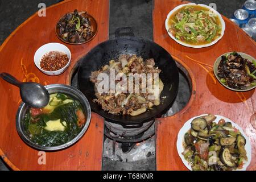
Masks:
[[[20,137],[38,150],[54,151],[76,143],[88,129],[90,105],[84,94],[68,85],[47,85],[49,103],[35,109],[22,103],[16,115]]]

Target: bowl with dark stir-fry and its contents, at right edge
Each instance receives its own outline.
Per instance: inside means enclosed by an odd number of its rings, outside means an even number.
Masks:
[[[215,61],[213,71],[217,80],[230,90],[246,92],[256,87],[256,62],[246,53],[224,53]]]

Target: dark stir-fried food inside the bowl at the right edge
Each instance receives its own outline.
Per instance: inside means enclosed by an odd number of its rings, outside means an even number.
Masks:
[[[256,61],[250,62],[237,52],[221,57],[218,65],[220,81],[234,89],[256,85]]]

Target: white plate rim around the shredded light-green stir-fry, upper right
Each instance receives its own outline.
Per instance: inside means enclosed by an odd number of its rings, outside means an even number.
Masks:
[[[166,22],[165,22],[167,32],[168,32],[168,30],[169,30],[169,28],[170,28],[170,26],[168,26],[168,20],[169,20],[170,16],[171,16],[173,13],[175,13],[175,11],[179,10],[181,7],[183,7],[183,6],[188,6],[188,5],[196,5],[196,3],[188,3],[188,4],[184,4],[184,5],[179,5],[179,6],[175,7],[175,9],[171,10],[170,13],[168,13],[167,18],[166,18]],[[172,39],[174,39],[177,43],[179,43],[179,44],[181,44],[181,45],[183,45],[183,46],[193,47],[193,48],[202,48],[202,47],[212,46],[213,44],[217,43],[218,40],[220,40],[220,39],[222,38],[222,36],[224,35],[224,31],[225,31],[225,22],[224,22],[224,20],[222,19],[220,13],[218,13],[218,11],[214,10],[212,7],[209,7],[209,6],[207,6],[207,5],[201,5],[201,4],[199,4],[199,5],[197,5],[197,6],[206,7],[206,8],[208,8],[208,9],[212,10],[212,11],[218,16],[218,18],[220,19],[220,22],[221,22],[221,36],[219,36],[219,37],[218,37],[217,39],[215,39],[213,42],[210,42],[210,43],[208,43],[208,44],[202,44],[202,45],[198,45],[198,46],[197,46],[197,45],[191,45],[191,44],[185,43],[185,42],[183,42],[183,41],[181,41],[181,40],[175,39],[175,37],[174,37],[170,32],[168,32],[168,34],[170,35],[170,37],[171,37]]]

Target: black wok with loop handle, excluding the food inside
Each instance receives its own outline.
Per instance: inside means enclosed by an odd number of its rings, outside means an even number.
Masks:
[[[120,30],[122,29],[118,29],[115,32],[115,39],[98,44],[79,61],[78,87],[88,98],[92,110],[104,117],[106,121],[122,125],[141,124],[160,117],[171,107],[177,93],[179,72],[171,55],[158,44],[151,40],[134,37],[129,27],[125,27],[126,31],[129,30],[125,35],[130,36],[121,37]],[[163,104],[154,106],[152,110],[147,110],[140,115],[131,116],[110,114],[108,111],[102,110],[101,105],[93,102],[96,96],[94,96],[94,84],[90,82],[89,78],[91,72],[100,69],[105,64],[109,64],[110,60],[117,59],[122,54],[135,54],[142,56],[143,59],[154,58],[156,67],[162,69],[159,77],[164,84],[161,97],[166,96],[164,99],[161,98]]]

